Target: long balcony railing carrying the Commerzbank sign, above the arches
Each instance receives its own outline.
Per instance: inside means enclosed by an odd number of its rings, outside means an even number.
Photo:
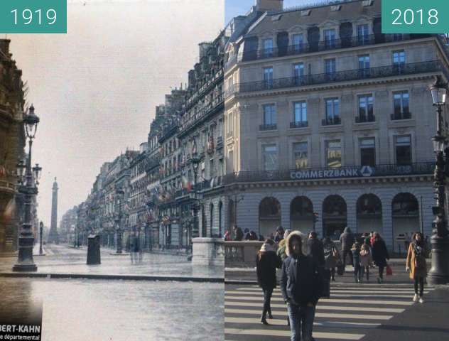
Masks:
[[[309,168],[302,170],[240,171],[224,175],[224,185],[261,181],[320,180],[336,178],[369,178],[397,175],[431,175],[434,162],[412,163],[406,166],[384,164],[377,166],[347,166],[340,168]]]

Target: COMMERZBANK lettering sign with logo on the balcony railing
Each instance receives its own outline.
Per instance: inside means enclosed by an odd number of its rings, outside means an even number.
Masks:
[[[292,180],[307,180],[307,179],[328,179],[328,178],[351,178],[361,176],[372,176],[375,171],[373,167],[347,167],[347,168],[335,168],[335,169],[320,169],[320,170],[303,170],[292,171],[290,178]]]

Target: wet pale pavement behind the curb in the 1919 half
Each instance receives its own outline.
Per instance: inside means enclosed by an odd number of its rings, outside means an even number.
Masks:
[[[36,249],[36,248],[35,248]],[[193,266],[187,256],[171,254],[142,255],[142,261],[131,263],[131,256],[114,256],[114,250],[102,249],[99,265],[87,265],[87,248],[75,249],[68,245],[45,245],[46,256],[35,256],[36,273],[25,276],[50,278],[134,279],[166,281],[223,281],[222,267]],[[34,252],[33,252],[34,253]],[[38,249],[37,249],[38,254]],[[17,256],[4,258],[0,264],[0,276],[24,276],[13,273]]]

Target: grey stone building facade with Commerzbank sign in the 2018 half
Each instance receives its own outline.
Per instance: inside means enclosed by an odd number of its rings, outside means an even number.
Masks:
[[[273,8],[227,48],[224,183],[244,193],[240,227],[375,230],[395,251],[399,234],[431,234],[428,87],[448,79],[448,50],[380,25],[379,0]]]

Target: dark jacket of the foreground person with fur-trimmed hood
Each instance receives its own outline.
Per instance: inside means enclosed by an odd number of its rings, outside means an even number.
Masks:
[[[297,305],[316,304],[323,291],[323,280],[311,256],[288,256],[282,264],[283,300]]]

